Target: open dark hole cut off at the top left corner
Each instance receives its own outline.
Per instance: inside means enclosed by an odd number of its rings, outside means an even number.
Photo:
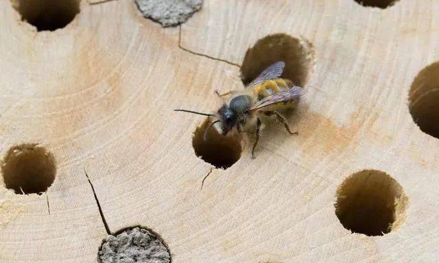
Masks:
[[[80,12],[80,0],[11,0],[21,19],[38,31],[54,31],[69,25]]]

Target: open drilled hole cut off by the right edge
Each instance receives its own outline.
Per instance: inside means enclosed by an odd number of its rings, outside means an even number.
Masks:
[[[439,138],[439,62],[424,68],[409,92],[409,110],[419,128]]]

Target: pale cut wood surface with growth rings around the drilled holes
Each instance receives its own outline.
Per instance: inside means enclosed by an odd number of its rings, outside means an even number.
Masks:
[[[106,230],[145,225],[178,262],[437,262],[439,141],[412,121],[407,94],[438,60],[439,2],[386,10],[351,0],[208,0],[181,45],[241,64],[274,33],[309,40],[315,66],[291,138],[270,127],[226,171],[193,154],[213,90],[241,88],[239,67],[178,47],[179,28],[142,18],[132,1],[82,3],[56,32],[19,22],[0,1],[0,149],[38,142],[58,172],[45,195],[0,187],[1,262],[95,262]],[[357,171],[392,175],[409,197],[397,231],[351,234],[335,192]]]

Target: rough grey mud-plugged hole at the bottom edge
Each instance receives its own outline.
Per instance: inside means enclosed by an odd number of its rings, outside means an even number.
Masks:
[[[102,241],[97,262],[169,263],[171,253],[164,240],[151,229],[130,227]]]

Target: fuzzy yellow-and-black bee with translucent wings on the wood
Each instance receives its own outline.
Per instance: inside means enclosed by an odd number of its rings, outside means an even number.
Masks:
[[[177,112],[189,112],[213,118],[209,127],[204,131],[204,140],[211,127],[215,127],[219,134],[226,136],[229,132],[243,132],[254,129],[256,140],[252,147],[252,159],[254,159],[254,149],[259,142],[259,132],[261,130],[261,120],[267,117],[274,117],[283,123],[289,134],[291,132],[285,117],[278,110],[294,108],[303,95],[304,90],[295,86],[289,79],[281,78],[285,63],[276,62],[265,69],[258,77],[241,91],[229,91],[219,95],[223,97],[230,95],[229,99],[222,105],[215,114],[194,112],[192,110],[175,110]]]

